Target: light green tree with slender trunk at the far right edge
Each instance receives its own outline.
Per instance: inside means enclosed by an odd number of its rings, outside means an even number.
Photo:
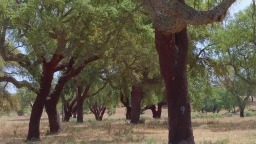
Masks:
[[[255,15],[253,5],[235,14],[226,27],[216,29],[211,36],[216,61],[224,69],[216,69],[219,80],[232,93],[240,108],[240,117],[256,85]],[[225,40],[219,37],[225,37]],[[235,111],[235,110],[234,110]]]

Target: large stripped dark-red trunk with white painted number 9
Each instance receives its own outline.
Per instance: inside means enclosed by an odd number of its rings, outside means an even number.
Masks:
[[[187,85],[187,29],[168,35],[155,29],[155,44],[165,81],[169,143],[195,144]]]

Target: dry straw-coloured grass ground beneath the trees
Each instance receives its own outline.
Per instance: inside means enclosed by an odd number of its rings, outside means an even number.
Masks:
[[[255,111],[256,107],[248,107]],[[256,144],[256,116],[240,118],[233,115],[211,112],[192,112],[193,133],[196,144]],[[42,144],[167,144],[167,109],[163,109],[161,119],[152,119],[147,110],[141,115],[140,123],[129,124],[125,120],[125,108],[118,108],[115,115],[104,115],[97,122],[93,115],[84,115],[84,123],[62,123],[63,131],[48,135],[48,119],[43,113],[40,123]],[[29,115],[9,115],[0,117],[0,144],[21,144],[28,131]]]

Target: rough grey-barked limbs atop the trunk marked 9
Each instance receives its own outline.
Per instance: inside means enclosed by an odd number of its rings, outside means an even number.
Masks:
[[[178,0],[145,0],[144,3],[160,31],[180,32],[187,24],[202,25],[220,22],[236,0],[222,0],[209,11],[197,11]]]

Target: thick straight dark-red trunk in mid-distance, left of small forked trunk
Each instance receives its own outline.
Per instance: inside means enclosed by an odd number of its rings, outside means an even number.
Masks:
[[[140,86],[132,86],[131,92],[131,123],[138,123],[141,111],[142,88]]]

